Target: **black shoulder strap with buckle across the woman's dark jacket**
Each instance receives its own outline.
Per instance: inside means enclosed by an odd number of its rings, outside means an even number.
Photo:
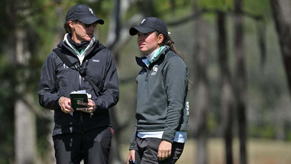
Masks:
[[[65,65],[67,65],[68,67],[72,67],[74,66],[75,69],[77,71],[79,71],[80,75],[82,77],[84,77],[93,87],[93,90],[95,92],[96,95],[101,96],[101,93],[98,89],[98,87],[94,84],[94,82],[90,79],[90,77],[88,75],[86,75],[85,71],[83,69],[81,69],[81,67],[79,66],[79,64],[77,63],[72,63],[69,58],[61,52],[61,47],[57,46],[55,49],[53,49],[53,51],[61,58],[61,60],[65,63]]]

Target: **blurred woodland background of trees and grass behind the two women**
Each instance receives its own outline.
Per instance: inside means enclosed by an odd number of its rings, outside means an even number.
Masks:
[[[177,163],[291,163],[290,0],[2,0],[0,164],[55,163],[53,111],[38,104],[45,58],[68,9],[87,4],[115,57],[120,100],[110,109],[110,162],[126,162],[142,56],[129,28],[161,18],[189,67],[189,132]],[[98,162],[97,162],[98,163]]]

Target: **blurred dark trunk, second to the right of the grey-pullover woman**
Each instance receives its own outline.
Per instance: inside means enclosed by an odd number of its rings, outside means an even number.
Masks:
[[[225,26],[225,13],[217,13],[218,26],[218,51],[219,51],[219,67],[222,78],[222,95],[221,95],[221,112],[222,112],[222,132],[226,144],[226,163],[232,164],[232,110],[233,105],[233,89],[231,83],[231,74],[228,66],[227,55],[227,37]]]

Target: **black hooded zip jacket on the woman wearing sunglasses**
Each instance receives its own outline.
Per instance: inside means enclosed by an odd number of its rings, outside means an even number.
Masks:
[[[63,41],[60,45],[63,53],[78,59],[75,50],[67,43]],[[83,133],[93,128],[111,125],[108,109],[119,100],[117,71],[111,52],[95,41],[85,54],[81,67],[87,67],[86,74],[99,88],[102,93],[100,97],[94,93],[89,82],[73,67],[67,67],[55,52],[49,54],[42,67],[38,98],[43,108],[54,110],[53,135]],[[71,115],[61,110],[59,98],[69,98],[72,91],[79,90],[86,90],[86,93],[92,95],[91,99],[96,104],[92,116],[82,111],[74,111]]]

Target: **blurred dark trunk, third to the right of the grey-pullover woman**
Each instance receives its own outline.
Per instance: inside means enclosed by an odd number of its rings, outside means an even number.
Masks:
[[[247,163],[246,156],[246,68],[243,45],[242,0],[235,0],[234,11],[234,53],[236,55],[235,97],[239,127],[240,164]]]

